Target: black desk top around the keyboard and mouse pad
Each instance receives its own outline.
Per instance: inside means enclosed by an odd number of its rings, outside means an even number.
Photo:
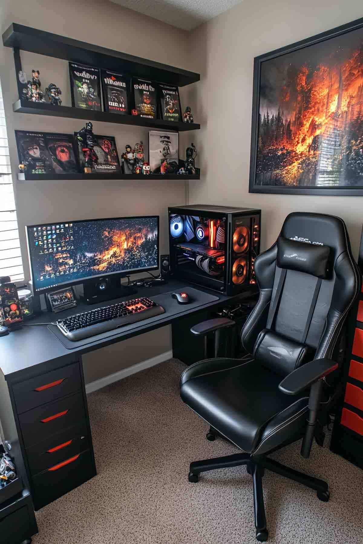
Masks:
[[[153,298],[157,295],[168,293],[169,291],[180,291],[183,287],[192,287],[196,289],[196,286],[191,283],[181,282],[179,280],[169,280],[162,286],[156,287],[140,287],[138,288],[137,294],[132,295],[133,297],[149,296]],[[226,302],[237,302],[238,300],[248,299],[255,294],[255,290],[247,289],[245,292],[234,295],[226,296],[217,292],[214,292],[210,289],[205,289],[198,287],[199,290],[210,293],[211,295],[216,295],[219,297],[219,300],[213,300],[207,304],[192,307],[189,305],[183,307],[183,311],[177,314],[165,312],[158,318],[144,319],[140,321],[137,326],[134,326],[131,330],[127,327],[119,329],[118,333],[115,333],[113,336],[102,337],[99,335],[95,342],[91,342],[87,345],[81,345],[80,347],[75,347],[70,350],[67,349],[54,334],[47,329],[46,326],[23,326],[22,329],[10,332],[9,335],[0,337],[0,369],[2,370],[5,379],[16,379],[14,374],[22,372],[23,370],[30,369],[34,366],[41,365],[43,363],[56,362],[59,358],[73,358],[78,357],[89,351],[95,349],[106,347],[107,345],[120,342],[126,338],[131,338],[143,334],[159,327],[169,325],[175,319],[187,316],[189,314],[198,312],[200,310],[205,310],[205,308],[218,306],[223,306]],[[51,312],[42,312],[41,316],[36,317],[35,319],[25,322],[30,324],[35,323],[50,323],[55,322],[59,318],[67,317],[75,313],[84,312],[97,308],[100,306],[106,306],[108,304],[114,304],[115,302],[121,300],[130,299],[130,296],[126,296],[121,299],[113,299],[101,304],[95,304],[87,306],[82,302],[78,303],[76,308],[71,308],[71,310],[59,312],[59,314],[54,314]],[[173,299],[174,300],[174,299]],[[33,369],[34,370],[34,369]]]

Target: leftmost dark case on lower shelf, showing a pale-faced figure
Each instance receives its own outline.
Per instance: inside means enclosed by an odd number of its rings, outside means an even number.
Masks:
[[[19,163],[31,174],[50,174],[53,172],[52,159],[46,147],[45,133],[35,131],[15,131]]]

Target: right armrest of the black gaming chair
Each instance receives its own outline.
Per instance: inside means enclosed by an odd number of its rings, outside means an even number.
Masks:
[[[279,384],[279,390],[287,395],[297,395],[338,368],[331,359],[315,359],[293,370]]]

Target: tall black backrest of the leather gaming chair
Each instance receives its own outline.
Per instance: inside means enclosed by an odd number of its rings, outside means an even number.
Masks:
[[[303,341],[315,358],[331,357],[361,286],[344,221],[291,213],[254,267],[260,296],[241,332],[244,348],[253,353],[257,336],[268,328],[292,343]]]

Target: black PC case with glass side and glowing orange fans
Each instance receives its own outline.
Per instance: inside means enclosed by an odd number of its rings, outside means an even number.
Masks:
[[[255,286],[260,228],[260,209],[169,208],[171,274],[227,295]]]

